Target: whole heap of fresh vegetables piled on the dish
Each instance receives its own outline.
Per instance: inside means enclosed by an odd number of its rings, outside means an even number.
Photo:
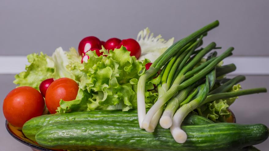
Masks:
[[[268,128],[228,123],[234,118],[228,107],[238,96],[267,90],[241,90],[245,76],[225,77],[236,69],[222,61],[234,48],[220,55],[215,42],[199,48],[218,25],[174,44],[146,28],[137,40],[90,36],[78,52],[60,47],[52,56],[28,55],[30,65],[15,76],[20,87],[5,98],[4,115],[51,149],[255,150]]]

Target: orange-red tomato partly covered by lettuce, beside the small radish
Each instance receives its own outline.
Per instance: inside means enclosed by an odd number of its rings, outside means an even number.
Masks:
[[[69,78],[60,78],[53,81],[46,92],[45,102],[50,113],[56,113],[61,99],[71,101],[76,99],[79,86]]]

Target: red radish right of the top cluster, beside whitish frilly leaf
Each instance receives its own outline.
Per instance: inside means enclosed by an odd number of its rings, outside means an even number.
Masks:
[[[130,56],[135,56],[136,59],[140,57],[141,47],[135,39],[123,39],[116,48],[120,48],[122,45],[131,52]]]

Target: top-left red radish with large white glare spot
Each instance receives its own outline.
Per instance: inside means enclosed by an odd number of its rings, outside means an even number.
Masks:
[[[83,56],[88,50],[93,48],[101,49],[101,41],[94,36],[83,38],[79,42],[79,55]]]

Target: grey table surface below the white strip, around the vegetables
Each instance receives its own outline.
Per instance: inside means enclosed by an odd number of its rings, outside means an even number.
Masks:
[[[1,134],[1,151],[30,151],[28,146],[16,141],[12,138],[5,128],[5,117],[2,113],[3,100],[15,85],[12,83],[14,75],[2,74],[0,75],[0,134]],[[241,83],[242,88],[256,88],[266,87],[269,89],[269,76],[246,76],[246,81]],[[263,123],[269,127],[269,93],[254,94],[248,96],[241,96],[230,109],[234,112],[237,123],[241,124],[255,124]],[[265,142],[256,145],[260,150],[267,150],[269,147],[269,139]]]

